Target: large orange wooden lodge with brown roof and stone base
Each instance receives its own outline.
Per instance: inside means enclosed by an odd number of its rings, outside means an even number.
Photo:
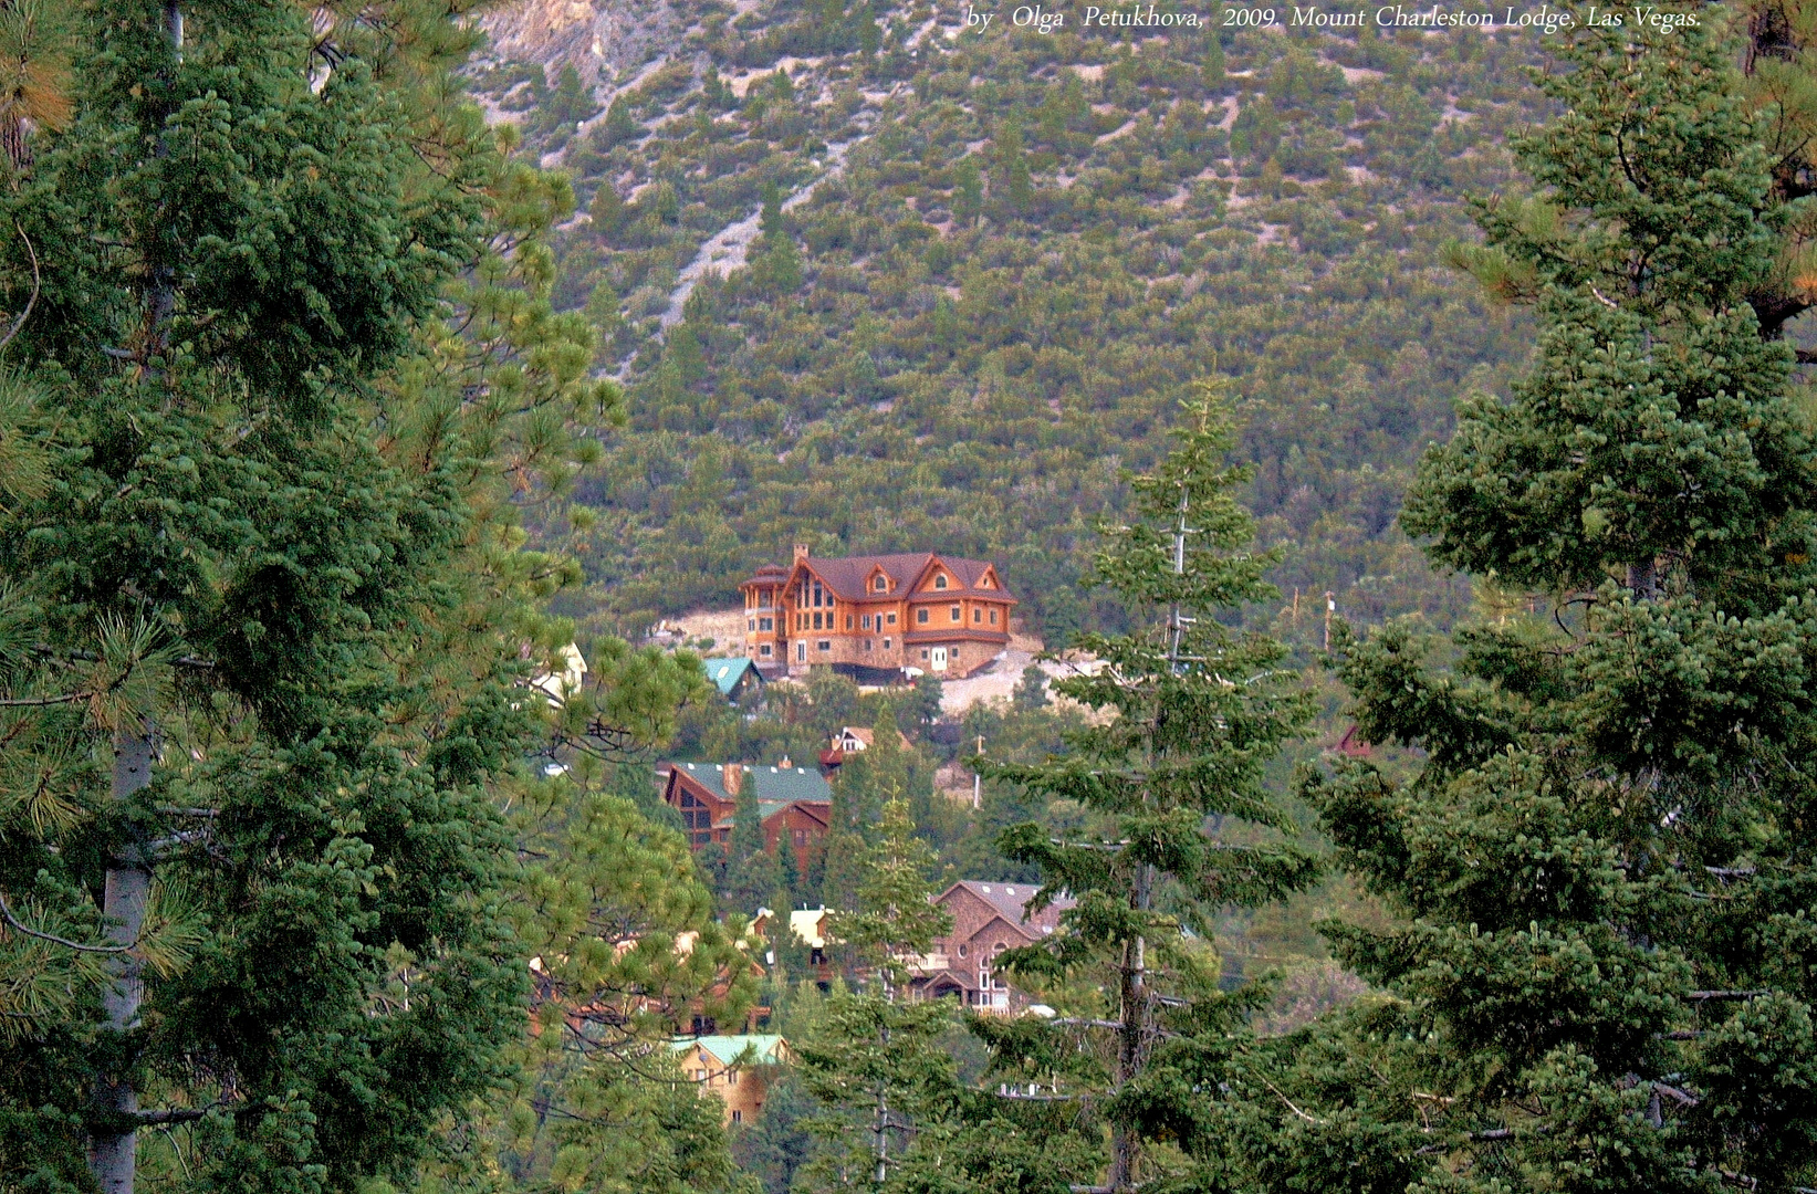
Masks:
[[[814,560],[796,543],[790,567],[738,589],[745,654],[765,676],[830,665],[859,683],[970,676],[1008,645],[1016,605],[994,563],[928,551]]]

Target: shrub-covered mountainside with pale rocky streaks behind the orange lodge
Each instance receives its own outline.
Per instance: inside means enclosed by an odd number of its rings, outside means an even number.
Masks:
[[[605,62],[501,38],[521,58],[478,73],[576,182],[558,303],[630,393],[578,491],[601,518],[571,540],[571,611],[725,603],[807,536],[998,558],[1050,642],[1114,622],[1067,582],[1119,467],[1216,371],[1283,592],[1448,622],[1466,589],[1394,518],[1452,400],[1503,391],[1530,342],[1445,245],[1474,236],[1463,196],[1512,178],[1544,38],[961,13],[627,9],[663,36]]]

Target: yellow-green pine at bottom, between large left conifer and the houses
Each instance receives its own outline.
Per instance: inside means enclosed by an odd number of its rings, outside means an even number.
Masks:
[[[738,1189],[720,1103],[680,1072],[669,1038],[696,1018],[736,1023],[750,1003],[741,921],[714,920],[678,832],[574,776],[531,792],[520,818],[523,849],[547,860],[514,907],[536,958],[520,1078],[462,1132],[478,1156],[431,1176],[483,1189],[474,1170],[498,1165],[558,1189]]]

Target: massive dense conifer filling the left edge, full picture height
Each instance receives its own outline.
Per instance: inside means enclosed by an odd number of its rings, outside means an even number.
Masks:
[[[0,194],[42,465],[0,511],[0,671],[53,714],[0,743],[0,970],[67,998],[0,1040],[0,1183],[347,1189],[521,1025],[507,611],[572,572],[498,478],[560,483],[611,391],[540,318],[547,254],[487,254],[560,187],[452,98],[458,9],[51,7],[69,120]],[[505,289],[474,363],[440,316]]]

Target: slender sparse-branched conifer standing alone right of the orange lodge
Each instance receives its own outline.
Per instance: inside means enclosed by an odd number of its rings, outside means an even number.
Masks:
[[[1003,834],[1005,856],[1041,871],[1030,907],[1061,894],[1077,901],[1059,932],[1003,954],[1003,965],[1047,981],[1103,976],[1112,1018],[979,1030],[999,1050],[999,1072],[1067,1072],[1061,1094],[1101,1094],[1114,1190],[1141,1181],[1145,1134],[1172,1136],[1147,1109],[1177,1085],[1174,1061],[1156,1047],[1172,1032],[1226,1027],[1216,965],[1188,930],[1205,936],[1208,909],[1277,900],[1317,872],[1292,845],[1239,845],[1206,831],[1243,821],[1290,829],[1263,792],[1261,771],[1305,723],[1308,700],[1277,671],[1279,643],[1216,620],[1272,594],[1263,580],[1270,556],[1248,551],[1248,514],[1230,498],[1243,473],[1223,463],[1232,434],[1217,385],[1199,385],[1174,434],[1161,465],[1132,478],[1132,525],[1105,527],[1108,543],[1096,558],[1096,576],[1139,629],[1081,636],[1103,669],[1054,685],[1116,716],[1070,734],[1070,752],[1047,763],[972,763],[987,778],[1072,800],[1092,818],[1083,838],[1050,840],[1034,823]],[[1081,1070],[1061,1060],[1092,1054],[1057,1040],[1074,1030],[1108,1034],[1105,1065]]]

